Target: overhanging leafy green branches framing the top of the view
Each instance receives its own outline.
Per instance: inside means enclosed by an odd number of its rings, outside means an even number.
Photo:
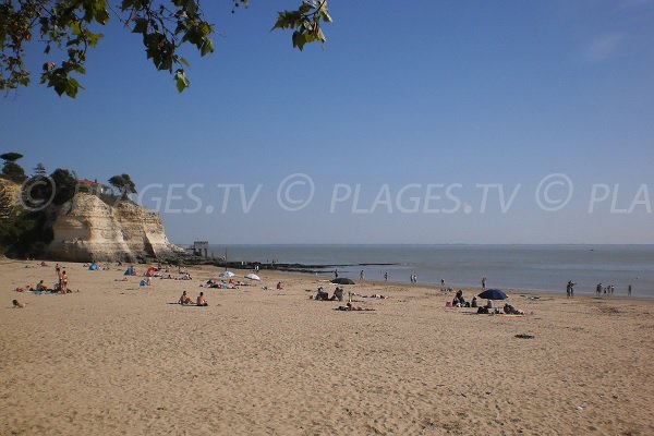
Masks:
[[[172,74],[181,93],[189,86],[189,62],[178,55],[180,47],[195,46],[201,56],[214,51],[215,26],[205,19],[202,1],[0,0],[0,89],[29,85],[24,57],[25,46],[34,40],[44,45],[40,83],[74,98],[83,87],[72,75],[85,74],[86,53],[104,36],[97,28],[113,15],[123,28],[142,35],[147,59]],[[232,3],[234,13],[250,0]],[[280,11],[272,29],[293,29],[293,47],[302,50],[305,44],[325,43],[320,22],[331,22],[327,0],[302,0],[296,10]]]

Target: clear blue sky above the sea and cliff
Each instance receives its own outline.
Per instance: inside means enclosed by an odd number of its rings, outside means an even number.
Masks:
[[[116,20],[75,100],[35,47],[0,150],[131,174],[178,243],[654,243],[654,1],[331,0],[304,52],[299,0],[205,3],[182,95]]]

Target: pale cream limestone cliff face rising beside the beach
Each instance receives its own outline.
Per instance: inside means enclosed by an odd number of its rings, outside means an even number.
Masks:
[[[86,193],[77,193],[61,207],[52,231],[47,251],[60,261],[170,261],[185,254],[168,241],[156,213],[129,202],[109,206]]]

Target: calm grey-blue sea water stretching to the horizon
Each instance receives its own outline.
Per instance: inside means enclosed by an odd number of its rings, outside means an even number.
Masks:
[[[597,283],[614,284],[615,294],[654,298],[654,245],[211,245],[228,259],[343,265],[339,276],[410,281],[440,287],[481,287],[591,294]],[[396,264],[365,266],[360,264]],[[354,266],[344,266],[354,265]],[[325,276],[330,276],[326,274]]]

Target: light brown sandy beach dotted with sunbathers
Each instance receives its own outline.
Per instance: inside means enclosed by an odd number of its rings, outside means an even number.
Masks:
[[[308,299],[313,276],[261,271],[186,307],[170,303],[219,270],[140,289],[80,264],[64,264],[78,293],[14,291],[51,283],[48,264],[0,262],[2,436],[654,434],[652,301],[512,292],[526,315],[505,317],[358,283],[389,299],[348,313]]]

